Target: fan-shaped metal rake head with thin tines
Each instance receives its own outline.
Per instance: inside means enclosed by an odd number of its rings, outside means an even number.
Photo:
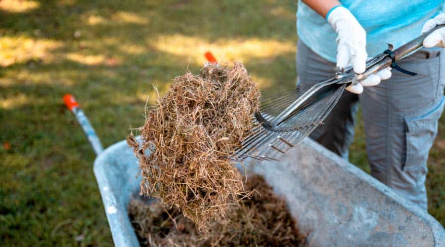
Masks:
[[[235,151],[235,159],[279,161],[322,124],[345,87],[346,84],[326,82],[305,93],[300,93],[297,87],[263,99],[260,111],[252,119],[252,131]]]

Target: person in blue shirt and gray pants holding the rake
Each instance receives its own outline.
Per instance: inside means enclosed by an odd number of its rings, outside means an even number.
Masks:
[[[444,0],[300,0],[297,11],[297,83],[304,91],[366,59],[445,24]],[[371,175],[427,210],[428,153],[444,110],[445,28],[398,65],[416,76],[385,68],[347,87],[310,137],[348,159],[358,103],[363,114]],[[385,82],[380,83],[381,81]]]

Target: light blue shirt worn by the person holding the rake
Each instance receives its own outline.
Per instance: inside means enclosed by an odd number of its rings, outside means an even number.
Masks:
[[[366,51],[373,57],[391,43],[394,47],[420,35],[423,24],[439,14],[445,0],[340,0],[366,31]],[[315,53],[335,62],[337,34],[325,18],[299,1],[297,30],[301,41]]]

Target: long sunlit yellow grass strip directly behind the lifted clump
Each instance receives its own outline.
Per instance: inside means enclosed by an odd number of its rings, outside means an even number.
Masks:
[[[184,35],[160,36],[157,41],[147,40],[147,43],[160,51],[177,56],[191,58],[192,62],[203,64],[203,54],[212,51],[219,61],[236,61],[254,58],[277,57],[295,51],[295,44],[291,41],[233,39],[210,43],[197,37]]]

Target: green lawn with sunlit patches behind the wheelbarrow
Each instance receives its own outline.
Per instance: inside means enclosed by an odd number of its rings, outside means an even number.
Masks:
[[[203,53],[241,60],[263,95],[290,89],[295,0],[1,0],[0,243],[112,245],[95,155],[61,97],[81,103],[102,144],[143,124]],[[362,124],[351,161],[365,170]],[[431,151],[429,212],[445,224],[445,118]]]

